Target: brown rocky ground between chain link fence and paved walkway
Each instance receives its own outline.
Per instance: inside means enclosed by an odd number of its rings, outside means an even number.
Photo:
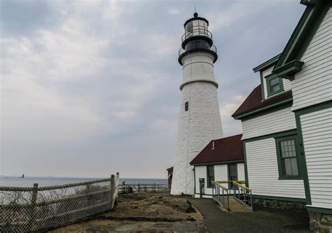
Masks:
[[[207,232],[187,199],[144,192],[122,195],[113,211],[51,232]]]

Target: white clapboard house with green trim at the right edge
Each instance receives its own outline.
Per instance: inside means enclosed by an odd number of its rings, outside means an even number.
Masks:
[[[307,8],[283,52],[254,68],[258,85],[242,120],[254,204],[306,209],[314,231],[332,231],[332,6]],[[272,200],[272,202],[270,202]]]

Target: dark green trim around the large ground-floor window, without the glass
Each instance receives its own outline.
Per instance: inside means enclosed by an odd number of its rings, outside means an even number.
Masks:
[[[283,158],[282,158],[282,142],[285,141],[294,141],[294,149],[296,153],[296,171],[297,175],[286,175],[285,174],[285,169],[283,165]],[[279,171],[279,180],[303,180],[303,177],[300,175],[300,164],[299,164],[299,155],[298,155],[298,139],[296,134],[291,135],[291,136],[284,136],[284,137],[278,137],[275,138],[275,148],[277,150],[277,163],[278,163],[278,171]],[[286,153],[290,153],[290,151],[286,151]],[[291,159],[293,157],[284,157],[284,160],[286,159]]]

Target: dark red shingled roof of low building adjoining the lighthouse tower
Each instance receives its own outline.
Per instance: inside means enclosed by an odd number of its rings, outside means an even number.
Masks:
[[[212,141],[191,161],[191,164],[201,164],[208,162],[226,162],[231,160],[243,160],[242,134],[228,136]]]

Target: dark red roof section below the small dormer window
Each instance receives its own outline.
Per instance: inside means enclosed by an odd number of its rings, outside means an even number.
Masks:
[[[241,106],[237,108],[237,111],[233,113],[233,118],[235,118],[237,115],[240,115],[242,113],[246,113],[249,111],[252,111],[254,109],[263,107],[263,106],[268,106],[269,104],[273,104],[277,101],[280,101],[282,99],[287,99],[289,97],[292,97],[291,90],[287,92],[283,92],[282,94],[278,94],[275,97],[271,97],[269,99],[265,99],[262,101],[262,92],[261,92],[261,85],[258,85],[243,101]]]

